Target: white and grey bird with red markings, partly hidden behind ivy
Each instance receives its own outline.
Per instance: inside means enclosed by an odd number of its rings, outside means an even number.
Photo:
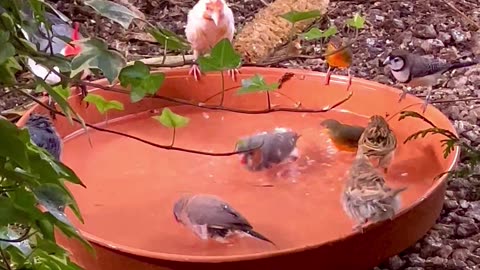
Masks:
[[[65,40],[71,39],[77,41],[83,39],[82,34],[79,31],[79,23],[73,23],[71,26],[71,20],[60,11],[49,7],[49,11],[45,11],[45,20],[51,25],[51,32],[47,33],[47,29],[44,23],[38,24],[34,19],[34,13],[28,4],[23,2],[23,8],[21,9],[21,15],[25,21],[24,25],[20,28],[25,38],[33,43],[37,49],[44,53],[53,53],[54,55],[63,55],[65,57],[74,57],[81,52],[81,47],[67,43]],[[51,42],[49,42],[49,36],[51,36]],[[51,43],[51,46],[49,45]],[[47,84],[57,84],[61,81],[61,78],[53,73],[42,64],[37,63],[32,58],[27,59],[27,66],[30,71],[40,79],[44,80]],[[58,66],[53,67],[53,70],[60,72]],[[82,74],[82,79],[85,78],[89,72]],[[87,90],[85,86],[80,86],[80,93],[82,97],[85,97]],[[44,93],[46,95],[46,93]],[[52,105],[52,99],[49,97],[49,105]]]

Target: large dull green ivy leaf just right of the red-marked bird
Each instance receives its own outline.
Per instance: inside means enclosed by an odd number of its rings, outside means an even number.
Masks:
[[[120,53],[109,50],[107,44],[98,38],[76,41],[82,51],[72,60],[72,73],[77,75],[85,69],[100,69],[110,83],[118,77],[120,70],[126,65],[126,60]]]

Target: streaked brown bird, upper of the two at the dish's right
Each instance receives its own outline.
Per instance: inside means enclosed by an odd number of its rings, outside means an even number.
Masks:
[[[378,167],[388,172],[395,150],[397,138],[390,129],[387,120],[380,115],[373,115],[358,140],[358,151],[371,158],[378,158]]]

